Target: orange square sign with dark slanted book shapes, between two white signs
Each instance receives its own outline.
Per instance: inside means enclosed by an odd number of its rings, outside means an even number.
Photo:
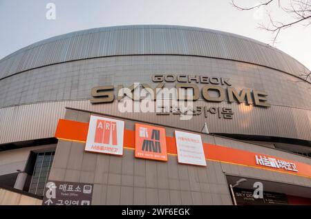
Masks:
[[[152,160],[167,160],[165,129],[136,123],[135,157]]]

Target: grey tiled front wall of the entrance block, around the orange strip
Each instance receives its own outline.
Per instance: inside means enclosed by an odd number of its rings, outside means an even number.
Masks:
[[[87,123],[91,114],[67,110],[66,119]],[[126,129],[134,129],[125,120]],[[167,136],[173,130],[166,128]],[[279,156],[311,164],[302,156],[228,138],[202,135],[202,141]],[[110,156],[84,152],[85,143],[59,140],[48,180],[94,183],[93,205],[232,205],[225,174],[270,180],[311,189],[311,179],[275,171],[230,165],[207,160],[207,167],[178,164],[176,156],[168,162],[134,157],[134,150]]]

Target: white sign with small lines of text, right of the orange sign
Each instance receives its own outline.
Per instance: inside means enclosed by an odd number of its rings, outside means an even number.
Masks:
[[[199,134],[175,131],[178,163],[206,166],[202,139]]]

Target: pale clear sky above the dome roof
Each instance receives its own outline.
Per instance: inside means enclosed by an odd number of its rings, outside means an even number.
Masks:
[[[258,0],[236,2],[254,6]],[[47,3],[55,3],[55,19],[46,19]],[[0,0],[0,59],[51,36],[114,25],[186,25],[232,32],[268,44],[272,34],[258,29],[258,23],[265,22],[263,10],[236,10],[231,0]],[[311,25],[283,30],[274,47],[311,70]]]

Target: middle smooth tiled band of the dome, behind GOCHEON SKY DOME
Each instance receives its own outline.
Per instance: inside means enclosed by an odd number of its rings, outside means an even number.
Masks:
[[[148,83],[153,74],[187,74],[229,78],[236,90],[265,91],[268,101],[311,109],[310,83],[267,67],[194,56],[111,56],[48,65],[0,80],[0,107],[91,98],[91,88],[100,85],[125,87]],[[192,81],[191,83],[194,83]],[[166,83],[165,87],[173,87]],[[202,83],[197,83],[202,88]],[[200,96],[202,98],[202,96]]]

